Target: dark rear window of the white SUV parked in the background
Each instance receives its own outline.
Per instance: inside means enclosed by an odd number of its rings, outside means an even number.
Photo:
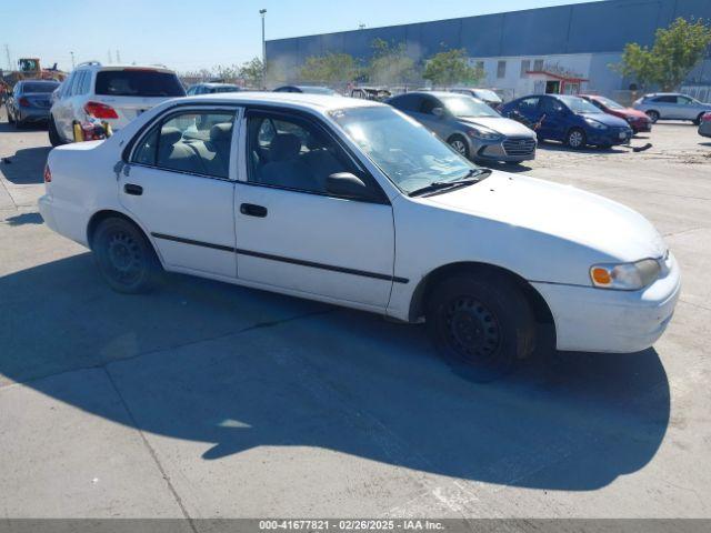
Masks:
[[[156,70],[103,70],[97,73],[97,94],[111,97],[184,97],[178,77]]]

